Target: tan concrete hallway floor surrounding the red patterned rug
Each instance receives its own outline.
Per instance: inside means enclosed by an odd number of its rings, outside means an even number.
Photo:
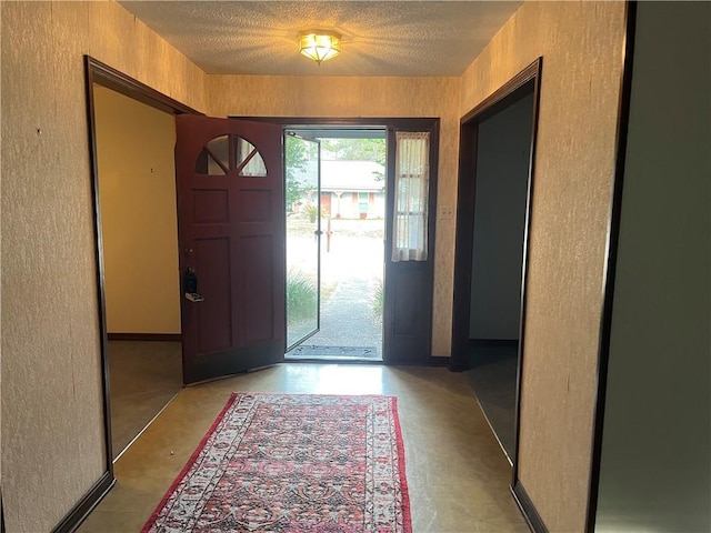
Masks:
[[[233,391],[397,395],[413,532],[529,531],[509,493],[509,463],[464,374],[283,363],[183,389],[116,462],[117,485],[79,532],[140,531]]]

